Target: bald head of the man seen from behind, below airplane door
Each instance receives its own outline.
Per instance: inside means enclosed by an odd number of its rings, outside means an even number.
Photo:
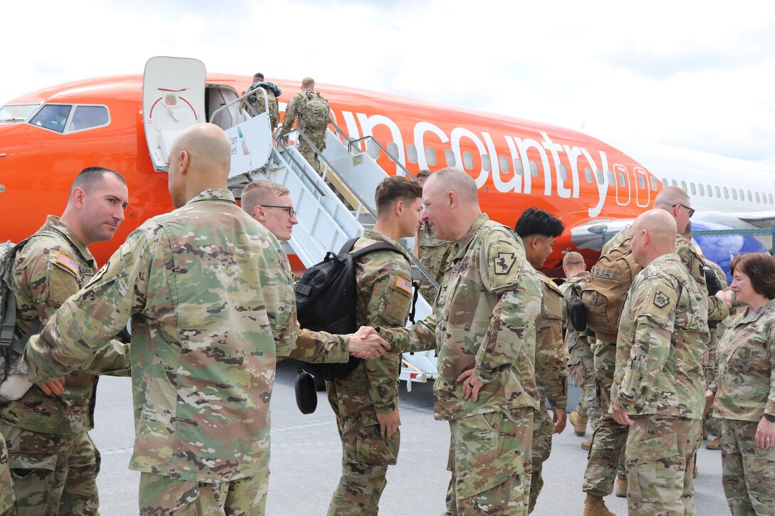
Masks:
[[[207,188],[226,188],[231,144],[214,124],[191,126],[177,136],[169,156],[169,188],[176,208]]]

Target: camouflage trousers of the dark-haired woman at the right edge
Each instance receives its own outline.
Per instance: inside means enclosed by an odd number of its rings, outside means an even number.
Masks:
[[[775,447],[756,448],[757,425],[722,419],[722,484],[733,516],[775,515]]]

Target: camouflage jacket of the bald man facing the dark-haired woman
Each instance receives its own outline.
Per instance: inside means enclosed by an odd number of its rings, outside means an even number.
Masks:
[[[636,276],[619,323],[611,404],[629,415],[702,418],[709,336],[700,289],[675,253]]]

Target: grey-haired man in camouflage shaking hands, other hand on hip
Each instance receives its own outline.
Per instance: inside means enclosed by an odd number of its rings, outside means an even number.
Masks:
[[[425,184],[422,218],[456,242],[433,314],[408,329],[381,329],[396,351],[436,349],[434,416],[449,421],[452,472],[446,514],[527,514],[536,388],[536,272],[522,241],[480,211],[463,170]]]

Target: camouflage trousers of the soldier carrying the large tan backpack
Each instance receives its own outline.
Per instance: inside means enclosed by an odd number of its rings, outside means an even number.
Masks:
[[[607,497],[614,491],[616,473],[624,473],[624,453],[627,442],[627,425],[619,425],[608,414],[611,386],[614,383],[616,346],[605,342],[595,345],[594,370],[597,400],[601,416],[592,434],[592,445],[587,455],[587,469],[581,489],[598,497]]]

